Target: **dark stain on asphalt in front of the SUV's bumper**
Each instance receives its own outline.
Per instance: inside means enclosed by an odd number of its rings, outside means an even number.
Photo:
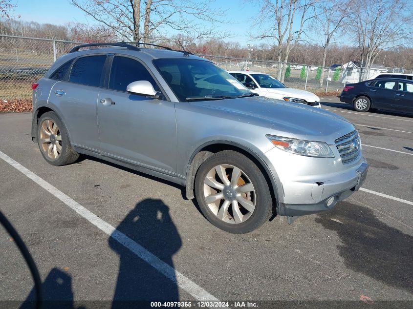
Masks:
[[[343,243],[339,254],[347,268],[413,292],[412,236],[384,224],[369,208],[348,202],[319,214],[316,222],[337,232]]]

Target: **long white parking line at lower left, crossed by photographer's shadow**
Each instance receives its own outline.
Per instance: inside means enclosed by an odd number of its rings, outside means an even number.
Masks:
[[[0,158],[7,162],[9,165],[16,168],[18,171],[22,172],[25,176],[33,180],[36,184],[40,185],[43,189],[50,192],[52,195],[57,197],[67,206],[72,208],[78,214],[80,214],[83,218],[89,221],[94,226],[98,227],[106,234],[108,234],[111,238],[116,240],[118,243],[122,244],[124,247],[128,248],[134,254],[136,254],[139,258],[150,264],[153,268],[163,274],[165,277],[170,279],[171,281],[175,282],[179,288],[184,289],[186,292],[191,294],[199,301],[218,301],[217,298],[212,296],[203,288],[199,287],[195,282],[185,277],[180,272],[176,271],[173,267],[169,266],[158,257],[153,255],[150,251],[145,249],[144,247],[140,246],[128,236],[123,234],[122,232],[118,231],[116,228],[112,227],[109,223],[102,220],[98,216],[96,216],[91,211],[87,210],[84,206],[80,205],[70,197],[68,197],[65,193],[55,188],[53,185],[50,185],[48,182],[44,181],[42,178],[37,176],[32,171],[25,168],[20,163],[14,161],[12,158],[4,154],[0,151]]]

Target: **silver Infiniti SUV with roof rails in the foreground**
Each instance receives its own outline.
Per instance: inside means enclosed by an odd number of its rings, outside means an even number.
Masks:
[[[32,139],[48,163],[82,153],[183,185],[231,233],[331,209],[366,178],[353,124],[257,96],[185,51],[81,45],[32,88]]]

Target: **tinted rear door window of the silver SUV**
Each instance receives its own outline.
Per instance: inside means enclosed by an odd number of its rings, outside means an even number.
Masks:
[[[72,66],[69,82],[99,87],[106,56],[87,56],[79,58]]]

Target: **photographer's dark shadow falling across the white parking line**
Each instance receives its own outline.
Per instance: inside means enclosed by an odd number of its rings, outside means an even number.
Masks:
[[[138,203],[117,230],[174,267],[172,257],[182,242],[169,215],[169,208],[161,200],[146,199]],[[115,239],[109,238],[109,246],[120,258],[112,309],[149,308],[148,301],[179,300],[176,282],[162,275]]]

